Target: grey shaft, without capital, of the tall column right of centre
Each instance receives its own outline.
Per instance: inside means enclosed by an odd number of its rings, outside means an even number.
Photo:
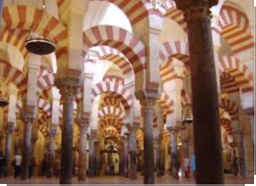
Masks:
[[[153,104],[146,102],[144,116],[144,184],[154,184]]]

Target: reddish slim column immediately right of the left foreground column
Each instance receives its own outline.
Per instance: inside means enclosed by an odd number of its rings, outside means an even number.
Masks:
[[[86,153],[87,153],[87,128],[89,119],[82,119],[80,122],[79,137],[79,158],[78,158],[78,181],[85,181],[86,178]]]

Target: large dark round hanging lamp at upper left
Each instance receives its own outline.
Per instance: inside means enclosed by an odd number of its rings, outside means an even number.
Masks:
[[[44,11],[43,19],[46,15],[46,5],[45,0],[41,6],[41,10]],[[38,21],[36,21],[37,23]],[[34,24],[35,26],[36,24]],[[33,30],[33,29],[31,29]],[[55,51],[55,44],[53,41],[42,38],[42,37],[34,37],[30,34],[29,38],[25,42],[26,49],[33,54],[36,55],[48,55]]]

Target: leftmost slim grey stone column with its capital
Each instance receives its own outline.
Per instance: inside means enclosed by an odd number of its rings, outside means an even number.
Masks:
[[[10,167],[11,167],[11,135],[14,130],[14,123],[8,122],[6,128],[6,138],[5,138],[5,162],[6,162],[6,168],[5,168],[5,176],[10,175]]]

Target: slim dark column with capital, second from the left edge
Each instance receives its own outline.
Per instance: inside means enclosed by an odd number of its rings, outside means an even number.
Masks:
[[[24,138],[23,138],[23,152],[22,152],[22,164],[21,164],[21,179],[26,180],[29,178],[29,163],[31,157],[31,135],[32,124],[34,123],[34,117],[23,116],[24,122]]]

